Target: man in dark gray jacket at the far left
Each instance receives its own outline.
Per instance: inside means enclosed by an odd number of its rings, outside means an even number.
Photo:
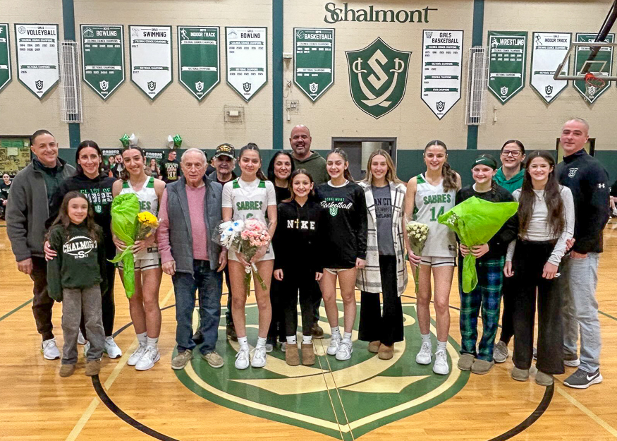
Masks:
[[[58,157],[58,143],[49,131],[36,131],[30,137],[30,150],[35,157],[11,184],[6,204],[6,233],[18,270],[34,282],[32,313],[43,339],[43,356],[55,360],[60,358],[60,351],[51,324],[54,301],[47,293],[45,221],[49,217],[51,197],[64,179],[75,174],[75,168]]]

